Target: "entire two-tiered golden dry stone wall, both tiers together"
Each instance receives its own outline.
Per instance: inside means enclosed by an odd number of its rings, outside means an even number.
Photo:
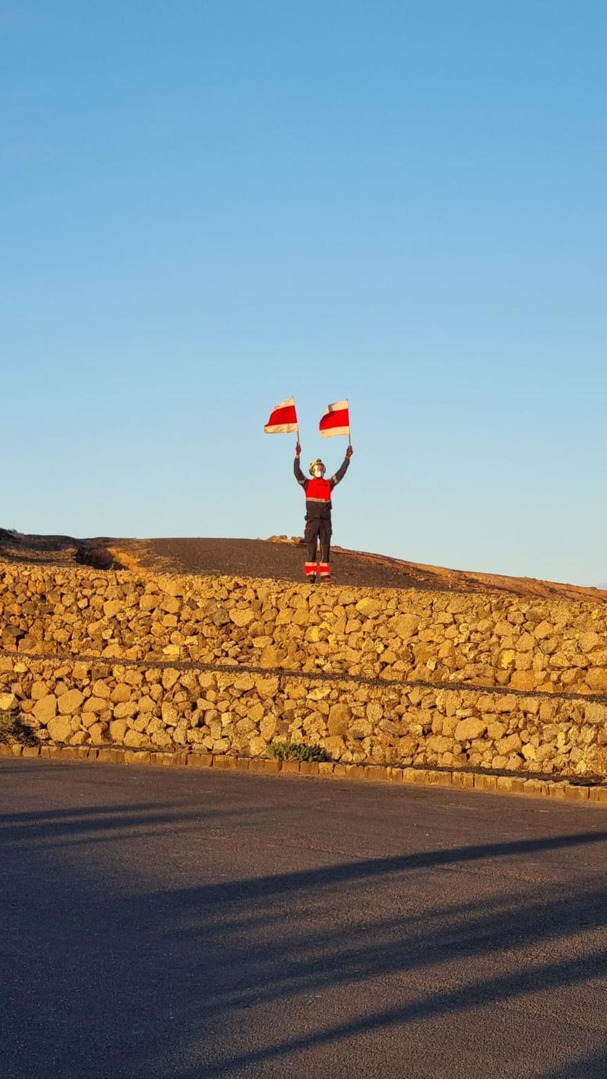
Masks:
[[[0,566],[0,710],[41,742],[607,775],[607,609]]]

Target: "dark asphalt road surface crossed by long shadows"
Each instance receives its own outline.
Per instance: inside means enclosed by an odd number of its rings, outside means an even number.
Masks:
[[[605,1079],[607,812],[0,761],[3,1079]]]

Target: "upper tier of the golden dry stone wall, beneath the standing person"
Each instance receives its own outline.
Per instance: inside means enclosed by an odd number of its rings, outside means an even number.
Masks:
[[[605,604],[6,565],[0,626],[28,655],[607,692]]]

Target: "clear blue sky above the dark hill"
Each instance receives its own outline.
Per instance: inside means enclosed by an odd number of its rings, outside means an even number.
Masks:
[[[0,2],[0,524],[607,582],[604,0]]]

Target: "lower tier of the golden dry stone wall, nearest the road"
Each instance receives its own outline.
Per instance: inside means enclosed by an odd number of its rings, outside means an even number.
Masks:
[[[0,709],[40,741],[260,756],[273,740],[342,763],[604,775],[607,705],[590,698],[0,656]]]

